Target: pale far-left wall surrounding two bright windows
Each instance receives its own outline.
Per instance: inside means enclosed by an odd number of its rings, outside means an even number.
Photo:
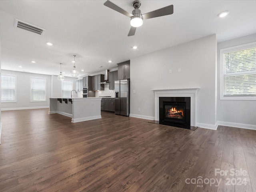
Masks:
[[[3,74],[16,75],[16,102],[2,103],[1,110],[7,109],[26,109],[26,108],[44,108],[49,106],[49,99],[46,102],[30,102],[30,77],[46,78],[46,98],[51,96],[51,76],[2,70]]]

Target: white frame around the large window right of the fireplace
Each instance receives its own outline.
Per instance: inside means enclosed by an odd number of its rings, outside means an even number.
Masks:
[[[223,73],[223,54],[236,52],[244,49],[256,48],[256,42],[220,49],[220,100],[256,100],[256,96],[232,96],[224,97],[224,73]]]

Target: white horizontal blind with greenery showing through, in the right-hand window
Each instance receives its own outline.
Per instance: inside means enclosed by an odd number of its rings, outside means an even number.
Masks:
[[[223,95],[256,96],[256,48],[223,54]]]

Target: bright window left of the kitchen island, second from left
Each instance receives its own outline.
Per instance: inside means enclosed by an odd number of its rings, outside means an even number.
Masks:
[[[44,78],[30,78],[31,93],[30,101],[46,101],[46,79]]]

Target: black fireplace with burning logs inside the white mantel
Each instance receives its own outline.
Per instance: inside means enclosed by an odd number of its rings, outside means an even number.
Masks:
[[[159,124],[190,129],[190,97],[159,97]]]

